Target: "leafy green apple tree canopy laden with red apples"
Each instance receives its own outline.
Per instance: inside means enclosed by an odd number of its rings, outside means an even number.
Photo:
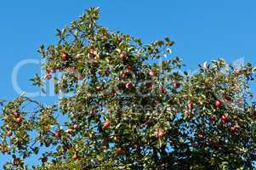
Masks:
[[[54,81],[62,98],[4,105],[4,168],[253,169],[253,65],[218,59],[191,75],[169,37],[145,44],[98,25],[99,14],[88,8],[38,50],[45,75],[31,81]]]

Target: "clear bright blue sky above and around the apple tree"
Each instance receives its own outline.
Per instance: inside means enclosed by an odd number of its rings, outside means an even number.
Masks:
[[[40,59],[39,46],[57,42],[56,28],[68,25],[92,6],[101,8],[100,25],[110,30],[140,37],[143,42],[171,37],[176,42],[174,56],[184,59],[191,71],[219,57],[229,63],[243,57],[245,62],[256,64],[254,0],[1,1],[0,99],[19,95],[11,82],[14,66],[23,59]],[[39,71],[40,65],[22,67],[20,88],[37,90],[28,80]],[[2,167],[7,157],[0,158]]]

